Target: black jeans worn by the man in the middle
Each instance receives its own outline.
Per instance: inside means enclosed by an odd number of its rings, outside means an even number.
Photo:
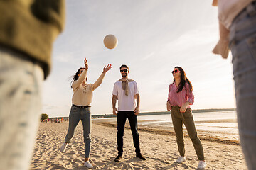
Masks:
[[[117,114],[117,150],[118,154],[122,155],[124,145],[124,126],[126,120],[129,120],[129,124],[132,130],[132,137],[134,141],[135,152],[139,153],[139,133],[137,125],[137,115],[134,115],[134,111],[118,111]]]

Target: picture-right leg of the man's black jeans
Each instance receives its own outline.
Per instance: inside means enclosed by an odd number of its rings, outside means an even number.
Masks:
[[[140,153],[137,115],[134,115],[133,111],[130,111],[130,112],[127,112],[127,113],[128,113],[127,118],[129,120],[129,124],[130,124],[131,130],[132,130],[132,137],[133,137],[135,152]]]

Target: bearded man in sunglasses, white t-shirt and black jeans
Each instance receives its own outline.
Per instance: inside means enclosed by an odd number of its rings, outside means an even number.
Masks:
[[[128,118],[132,130],[133,142],[136,152],[136,157],[142,160],[146,158],[142,155],[139,149],[139,133],[137,125],[137,115],[139,115],[139,90],[136,81],[129,79],[129,67],[122,65],[120,68],[122,79],[114,83],[112,92],[112,107],[113,114],[117,115],[117,150],[118,155],[114,159],[115,162],[122,160],[123,154],[123,137],[125,122]],[[137,103],[135,102],[135,99]],[[118,100],[118,110],[116,103]]]

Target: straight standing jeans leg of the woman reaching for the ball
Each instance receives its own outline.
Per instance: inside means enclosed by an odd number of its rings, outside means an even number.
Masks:
[[[91,129],[92,129],[92,118],[90,113],[90,108],[83,108],[82,110],[82,127],[83,127],[83,135],[85,142],[85,158],[90,157],[90,149],[91,149]]]

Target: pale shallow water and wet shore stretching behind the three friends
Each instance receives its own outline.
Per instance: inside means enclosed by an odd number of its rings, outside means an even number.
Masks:
[[[238,124],[234,111],[193,113],[193,116],[198,137],[201,140],[240,145]],[[92,122],[107,127],[117,127],[117,118],[97,118],[92,119]],[[140,131],[176,136],[170,113],[166,115],[139,115],[137,122]],[[129,129],[128,120],[125,127]],[[188,137],[185,125],[183,125],[183,133],[184,137]]]

